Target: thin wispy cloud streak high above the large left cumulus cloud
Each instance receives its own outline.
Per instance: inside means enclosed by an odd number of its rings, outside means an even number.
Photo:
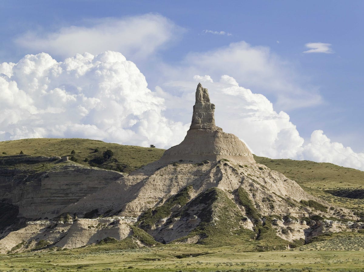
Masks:
[[[35,53],[69,57],[76,53],[99,54],[106,50],[123,52],[128,58],[145,58],[175,40],[184,29],[158,14],[103,18],[72,25],[55,32],[30,31],[15,43]]]

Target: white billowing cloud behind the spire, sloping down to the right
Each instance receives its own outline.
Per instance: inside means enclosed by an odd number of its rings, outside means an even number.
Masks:
[[[180,89],[175,96],[159,90],[158,94],[169,105],[166,109],[169,116],[190,119],[194,90],[202,78],[211,77],[195,75],[194,82],[173,82],[173,88]],[[209,89],[211,102],[216,106],[216,125],[237,135],[254,154],[331,162],[364,170],[364,153],[355,153],[350,147],[331,142],[321,130],[314,131],[309,141],[305,141],[286,112],[275,111],[264,95],[239,86],[235,78],[223,75],[219,81],[211,78],[202,85]]]

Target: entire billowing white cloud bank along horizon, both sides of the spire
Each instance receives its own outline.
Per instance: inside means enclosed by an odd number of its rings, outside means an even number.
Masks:
[[[216,105],[216,124],[240,137],[255,154],[364,170],[364,153],[331,142],[321,130],[305,142],[287,113],[276,112],[265,96],[239,86],[233,77],[216,81],[195,75],[193,80],[181,82],[178,94],[158,86],[152,92],[137,66],[112,51],[76,54],[63,62],[46,53],[27,55],[16,64],[4,62],[0,141],[79,137],[168,148],[181,142],[189,128],[180,120],[186,114],[190,118],[200,81]]]

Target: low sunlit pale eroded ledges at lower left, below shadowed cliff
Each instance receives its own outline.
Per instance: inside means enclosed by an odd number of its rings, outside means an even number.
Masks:
[[[46,246],[62,248],[82,247],[107,237],[122,240],[130,234],[130,226],[136,221],[137,218],[124,216],[75,219],[71,222],[30,221],[25,227],[0,240],[0,254],[32,249],[41,240]]]

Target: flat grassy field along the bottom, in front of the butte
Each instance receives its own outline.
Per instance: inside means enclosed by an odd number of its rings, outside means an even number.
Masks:
[[[2,271],[363,271],[364,251],[242,252],[239,246],[161,245],[0,255]]]

